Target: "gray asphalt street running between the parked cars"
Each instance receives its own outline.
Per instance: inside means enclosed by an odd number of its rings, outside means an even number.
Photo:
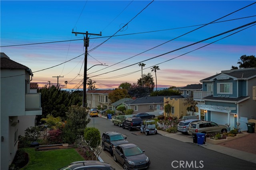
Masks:
[[[128,131],[112,121],[91,118],[88,127],[96,127],[102,134],[117,131],[127,136],[130,143],[138,145],[150,158],[148,170],[255,170],[256,164],[226,154],[205,149],[194,143],[184,143],[162,135],[136,135],[140,130]],[[107,151],[103,151],[107,152]]]

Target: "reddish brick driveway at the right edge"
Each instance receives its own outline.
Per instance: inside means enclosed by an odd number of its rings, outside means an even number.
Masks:
[[[247,136],[219,143],[218,145],[256,154],[256,133],[249,133]]]

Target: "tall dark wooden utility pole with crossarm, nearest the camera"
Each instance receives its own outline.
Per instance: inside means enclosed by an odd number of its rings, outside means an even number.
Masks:
[[[86,31],[86,33],[80,33],[80,32],[73,32],[75,35],[77,34],[85,34],[86,37],[84,37],[84,47],[85,47],[85,53],[84,53],[84,88],[83,88],[83,107],[87,106],[87,100],[86,100],[86,82],[87,82],[87,49],[89,47],[89,38],[88,35],[98,35],[101,36],[101,32],[100,34],[92,34],[92,33],[88,33],[88,31]]]

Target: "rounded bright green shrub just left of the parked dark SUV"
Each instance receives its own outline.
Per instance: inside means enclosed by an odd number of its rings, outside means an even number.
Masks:
[[[92,148],[97,148],[100,145],[100,131],[95,127],[87,127],[84,130],[84,139]]]

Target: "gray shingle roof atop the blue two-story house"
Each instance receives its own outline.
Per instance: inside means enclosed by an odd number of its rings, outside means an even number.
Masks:
[[[214,76],[210,76],[208,78],[204,78],[201,81],[206,81],[206,80],[211,80],[212,78],[220,75],[220,74],[226,74],[228,76],[232,76],[232,77],[235,77],[235,78],[253,78],[256,76],[256,68],[243,68],[243,69],[236,69],[236,70],[225,70],[225,71],[222,71],[221,73],[219,74],[216,74]]]

